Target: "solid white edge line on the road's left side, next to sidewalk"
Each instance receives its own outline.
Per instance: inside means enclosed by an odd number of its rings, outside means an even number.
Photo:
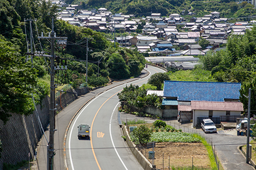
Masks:
[[[149,71],[149,75],[151,75],[151,72]],[[147,78],[147,76],[145,77]],[[145,79],[145,78],[142,78],[142,79]],[[126,84],[129,84],[129,83],[125,83],[123,85],[126,85]],[[122,85],[120,85],[122,86]],[[116,87],[113,87],[112,89],[110,90],[114,90],[116,89],[117,87],[120,87],[120,86],[116,86]],[[70,131],[70,135],[69,135],[69,139],[68,139],[68,153],[70,154],[70,163],[71,163],[71,168],[72,170],[75,170],[74,166],[73,166],[73,160],[72,160],[72,154],[71,154],[71,135],[72,135],[72,131],[73,131],[73,128],[75,127],[75,124],[76,124],[76,121],[78,119],[78,117],[82,114],[82,112],[86,109],[87,106],[89,106],[91,104],[91,102],[93,102],[94,100],[96,100],[98,97],[100,97],[101,95],[105,94],[106,92],[109,92],[110,90],[107,90],[105,92],[102,92],[102,94],[100,94],[99,96],[95,97],[95,99],[93,99],[92,101],[90,101],[86,106],[85,108],[80,112],[80,114],[76,117],[76,120],[73,122],[73,125],[71,127],[71,131]]]

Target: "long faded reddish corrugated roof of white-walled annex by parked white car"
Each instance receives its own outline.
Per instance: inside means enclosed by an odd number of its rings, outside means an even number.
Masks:
[[[191,101],[192,110],[244,111],[242,102]]]

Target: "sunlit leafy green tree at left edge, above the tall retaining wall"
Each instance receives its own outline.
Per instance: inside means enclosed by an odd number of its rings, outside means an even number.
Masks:
[[[29,62],[25,63],[25,58],[18,51],[18,47],[0,37],[0,120],[4,123],[11,116],[8,112],[20,115],[33,113],[32,92],[47,94],[43,88],[38,90],[36,69],[31,68]],[[40,102],[39,96],[35,98]]]

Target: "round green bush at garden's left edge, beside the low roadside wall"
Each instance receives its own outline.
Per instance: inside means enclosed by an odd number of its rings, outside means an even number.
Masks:
[[[146,127],[145,125],[141,125],[135,128],[131,132],[132,137],[134,137],[135,143],[140,143],[140,145],[145,146],[147,142],[150,141],[152,136],[152,131],[150,128]]]

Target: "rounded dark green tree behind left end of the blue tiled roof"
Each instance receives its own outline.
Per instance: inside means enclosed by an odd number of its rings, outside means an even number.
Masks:
[[[150,77],[147,83],[156,86],[157,90],[161,90],[161,86],[164,84],[164,80],[171,80],[168,74],[156,73]]]

